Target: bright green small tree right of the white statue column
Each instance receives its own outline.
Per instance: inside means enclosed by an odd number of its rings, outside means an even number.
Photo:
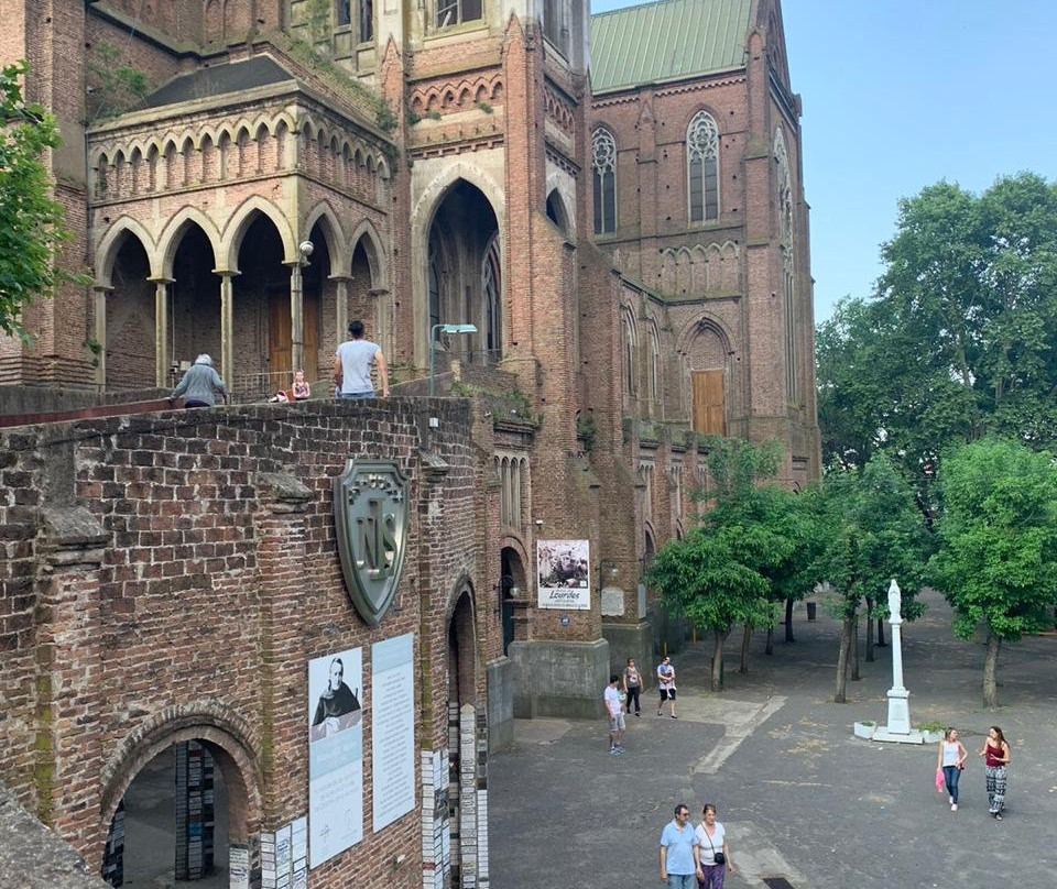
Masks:
[[[983,628],[983,703],[995,707],[1002,644],[1049,626],[1057,605],[1057,468],[1046,452],[985,439],[947,456],[939,483],[930,578],[957,636]]]

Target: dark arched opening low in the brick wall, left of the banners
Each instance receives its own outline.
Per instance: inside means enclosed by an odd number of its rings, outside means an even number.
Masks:
[[[240,850],[236,867],[249,854],[244,798],[224,748],[201,738],[164,747],[137,771],[111,819],[103,880],[227,889],[231,845]]]

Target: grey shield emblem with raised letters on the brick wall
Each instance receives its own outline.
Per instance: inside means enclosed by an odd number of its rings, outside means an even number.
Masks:
[[[345,586],[378,626],[396,594],[407,546],[407,479],[391,460],[349,460],[334,480],[334,523]]]

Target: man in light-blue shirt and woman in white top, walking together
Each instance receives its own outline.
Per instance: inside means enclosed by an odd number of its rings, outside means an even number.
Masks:
[[[701,823],[689,825],[686,803],[675,806],[675,817],[661,833],[661,882],[668,889],[723,889],[727,871],[734,872],[727,831],[717,821],[716,806],[701,806]]]

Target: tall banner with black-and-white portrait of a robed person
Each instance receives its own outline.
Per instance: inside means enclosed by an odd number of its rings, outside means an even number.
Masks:
[[[363,838],[363,649],[308,661],[308,866]]]

